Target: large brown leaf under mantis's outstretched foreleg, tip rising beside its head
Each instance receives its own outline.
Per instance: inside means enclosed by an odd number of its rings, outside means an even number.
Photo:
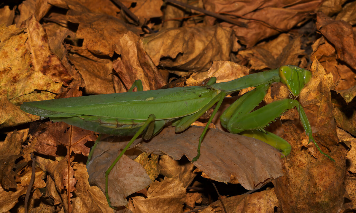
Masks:
[[[332,116],[330,87],[332,76],[326,75],[318,60],[312,64],[313,77],[300,94],[300,103],[304,106],[316,143],[335,161],[320,154],[313,143],[308,151],[300,150],[301,143],[308,143],[308,137],[302,128],[299,131],[293,121],[283,123],[283,138],[288,138],[292,146],[291,153],[283,159],[282,177],[273,180],[279,208],[283,212],[309,212],[319,209],[321,212],[336,212],[344,200],[344,165],[346,149],[336,146],[336,123]],[[296,111],[295,115],[298,116]],[[299,122],[298,122],[299,123]],[[327,147],[331,152],[329,152]]]

